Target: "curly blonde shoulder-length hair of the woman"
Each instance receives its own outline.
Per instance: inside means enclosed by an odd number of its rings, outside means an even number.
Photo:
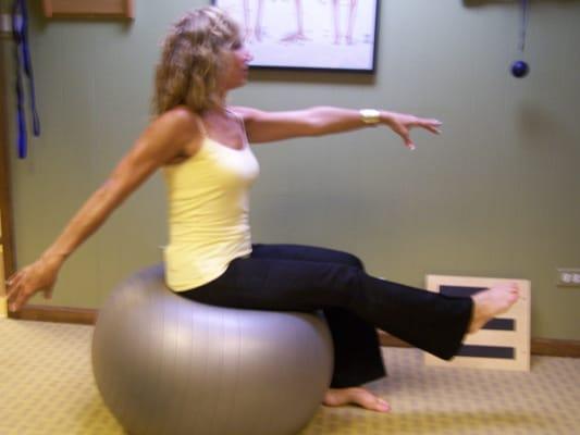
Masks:
[[[163,41],[157,65],[156,114],[180,104],[196,113],[217,107],[223,54],[239,41],[237,23],[215,7],[190,11],[178,20]]]

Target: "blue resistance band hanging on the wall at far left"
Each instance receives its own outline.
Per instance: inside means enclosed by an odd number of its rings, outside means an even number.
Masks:
[[[33,116],[33,132],[40,136],[40,121],[36,111],[34,91],[33,63],[28,49],[28,12],[25,0],[14,0],[12,4],[12,35],[14,38],[14,61],[16,65],[16,114],[18,125],[18,158],[27,156],[26,116],[24,113],[24,89],[21,70],[28,78],[28,95],[30,97],[30,112]]]

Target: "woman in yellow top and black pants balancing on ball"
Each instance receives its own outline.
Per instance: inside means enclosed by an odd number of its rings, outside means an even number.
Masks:
[[[323,309],[335,343],[335,371],[323,402],[387,411],[384,400],[359,387],[384,375],[377,326],[448,359],[467,332],[517,300],[517,288],[448,298],[369,276],[348,253],[252,246],[247,191],[258,163],[248,140],[384,125],[414,148],[410,128],[439,133],[440,123],[373,110],[229,108],[227,92],[246,83],[250,59],[237,25],[215,8],[193,11],[175,24],[157,71],[157,119],[57,240],[8,281],[10,309],[18,310],[37,291],[50,297],[64,260],[162,167],[169,191],[168,285],[184,297],[226,307]]]

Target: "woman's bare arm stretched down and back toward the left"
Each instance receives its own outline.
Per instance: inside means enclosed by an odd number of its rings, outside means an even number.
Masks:
[[[182,109],[172,110],[156,120],[54,243],[38,260],[7,281],[10,310],[20,310],[38,291],[50,298],[64,260],[102,225],[131,192],[161,165],[180,154],[195,151],[198,125],[196,115]]]

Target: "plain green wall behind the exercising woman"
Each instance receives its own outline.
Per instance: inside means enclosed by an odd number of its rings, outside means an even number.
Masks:
[[[131,24],[49,22],[33,8],[44,132],[27,160],[12,156],[20,265],[147,125],[159,41],[203,3],[139,0]],[[508,73],[519,2],[382,3],[374,78],[254,72],[232,102],[388,108],[436,116],[444,134],[416,132],[415,152],[383,128],[256,147],[255,240],[347,249],[416,286],[428,273],[530,279],[533,336],[580,339],[580,289],[555,285],[556,268],[580,268],[580,2],[532,2],[532,71],[520,80]],[[71,258],[51,303],[98,307],[123,276],[159,262],[164,206],[157,175]]]

